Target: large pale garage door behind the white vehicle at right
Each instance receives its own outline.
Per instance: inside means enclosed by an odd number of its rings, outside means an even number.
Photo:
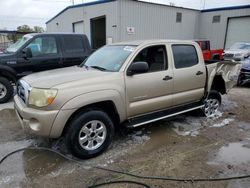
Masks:
[[[229,19],[225,48],[235,42],[250,42],[250,17]]]

